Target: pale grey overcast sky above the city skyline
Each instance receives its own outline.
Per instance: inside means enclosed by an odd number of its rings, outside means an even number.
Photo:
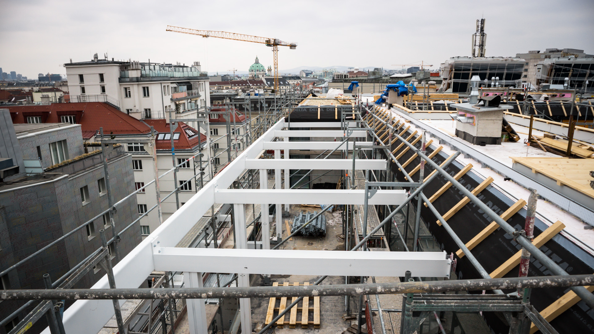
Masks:
[[[210,73],[247,71],[271,48],[165,31],[167,25],[298,42],[279,68],[434,65],[469,56],[485,17],[486,56],[575,48],[594,53],[594,1],[26,1],[0,0],[0,67],[29,78],[65,74],[61,64],[102,58],[200,61]]]

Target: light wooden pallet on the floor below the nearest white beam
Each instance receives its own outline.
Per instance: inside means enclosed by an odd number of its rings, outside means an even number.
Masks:
[[[293,286],[298,285],[309,285],[309,282],[299,283],[293,282]],[[272,283],[272,286],[279,286],[279,282]],[[283,286],[289,286],[289,282],[283,283]],[[279,301],[279,306],[276,306],[277,297],[270,298],[268,301],[268,310],[266,312],[266,320],[264,324],[269,324],[273,319],[274,315],[279,314],[285,310],[287,306],[287,298],[288,297],[281,297]],[[291,297],[291,303],[297,300],[297,297]],[[313,313],[313,321],[309,321],[309,313]],[[301,313],[298,317],[297,314]],[[304,297],[301,303],[301,306],[297,304],[295,307],[291,308],[289,311],[289,321],[285,321],[285,314],[284,316],[280,317],[280,319],[276,322],[276,326],[279,328],[283,328],[286,325],[289,325],[289,328],[295,328],[296,325],[301,325],[301,328],[307,328],[310,324],[314,326],[314,328],[320,328],[320,297],[314,297],[312,301],[312,305],[310,305],[310,298]],[[301,319],[301,320],[297,320]]]

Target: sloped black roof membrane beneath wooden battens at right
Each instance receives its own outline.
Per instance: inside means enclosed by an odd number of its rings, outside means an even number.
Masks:
[[[410,136],[410,133],[412,133],[411,130],[407,131],[407,134],[404,134],[403,137]],[[381,137],[382,134],[383,131],[380,131],[378,136]],[[396,143],[392,145],[391,149],[394,150],[399,144],[399,141],[396,141]],[[420,148],[421,142],[419,141],[415,146]],[[405,147],[406,146],[403,146],[399,152],[402,152]],[[433,150],[436,148],[437,147],[435,145],[431,145],[428,147],[426,154],[429,155],[429,153],[433,152]],[[408,150],[402,157],[400,157],[399,161],[401,163],[406,162],[406,160],[408,160],[413,154],[414,152],[412,152],[412,150]],[[398,152],[394,153],[394,155],[397,156]],[[434,157],[433,160],[436,163],[441,164],[447,159],[447,157],[448,156],[445,155],[445,153],[440,152]],[[384,158],[386,158],[385,155]],[[412,163],[406,166],[406,171],[412,171],[412,169],[415,168],[419,163],[420,158],[416,157]],[[399,172],[396,163],[391,162],[390,166],[394,174],[397,175],[398,181],[405,182],[406,179],[404,178],[402,172]],[[448,165],[447,168],[445,168],[445,171],[447,171],[450,175],[455,175],[462,168],[464,168],[462,164],[454,161]],[[425,175],[429,175],[429,173],[432,171],[433,168],[426,164]],[[415,180],[418,177],[418,172],[413,175],[413,179]],[[482,181],[484,181],[484,179],[472,171],[467,172],[459,179],[459,182],[469,190],[475,188]],[[447,180],[444,177],[438,176],[431,182],[431,184],[426,186],[424,193],[427,197],[430,197],[431,194],[434,194],[436,191],[438,191],[446,182]],[[438,197],[437,200],[433,202],[433,204],[438,212],[445,214],[451,209],[451,207],[453,207],[464,197],[465,196],[459,190],[457,190],[456,187],[450,187],[447,191],[445,191],[444,194]],[[492,185],[489,185],[484,191],[481,191],[477,197],[500,215],[517,201],[516,198],[510,198],[506,196]],[[445,228],[443,226],[437,225],[437,218],[433,215],[431,210],[425,206],[421,206],[421,208],[421,216],[431,234],[434,235],[435,239],[440,244],[440,248],[445,250],[448,254],[454,253],[454,256],[456,256],[455,254],[456,251],[459,250],[459,247],[445,231]],[[508,219],[507,222],[516,229],[522,230],[525,224],[525,219],[526,210],[521,209],[510,219]],[[492,219],[472,203],[466,204],[466,206],[460,209],[459,212],[448,219],[448,224],[451,226],[454,232],[456,232],[462,242],[470,241],[491,222]],[[547,227],[548,225],[537,218],[535,220],[535,237],[541,234],[542,231],[544,231]],[[498,228],[495,232],[486,237],[484,241],[481,241],[475,248],[473,248],[472,254],[476,257],[476,259],[478,259],[479,263],[481,263],[485,270],[490,273],[497,269],[515,253],[520,251],[521,248],[522,247],[517,244],[517,242],[514,241],[510,235],[505,233],[501,228]],[[546,242],[545,245],[540,248],[540,250],[571,275],[591,274],[594,272],[594,256],[584,251],[564,235],[557,234],[554,238],[552,238],[552,240]],[[458,263],[456,267],[456,274],[459,279],[481,278],[479,273],[472,266],[466,256],[462,257],[462,259],[457,259]],[[519,266],[516,266],[514,269],[510,270],[510,272],[504,275],[504,277],[517,277],[518,272]],[[415,273],[412,273],[412,275],[415,276]],[[529,276],[547,275],[552,275],[552,273],[546,269],[543,264],[532,257],[530,259]],[[568,291],[570,291],[568,288],[533,289],[530,303],[533,304],[538,311],[542,311]],[[513,291],[509,290],[504,292],[510,293]],[[483,312],[483,316],[495,334],[508,333],[509,327],[495,313]],[[559,333],[590,333],[594,329],[594,310],[590,309],[590,307],[588,307],[583,301],[580,301],[579,303],[570,307],[567,311],[561,313],[550,323],[555,329],[557,329]]]

